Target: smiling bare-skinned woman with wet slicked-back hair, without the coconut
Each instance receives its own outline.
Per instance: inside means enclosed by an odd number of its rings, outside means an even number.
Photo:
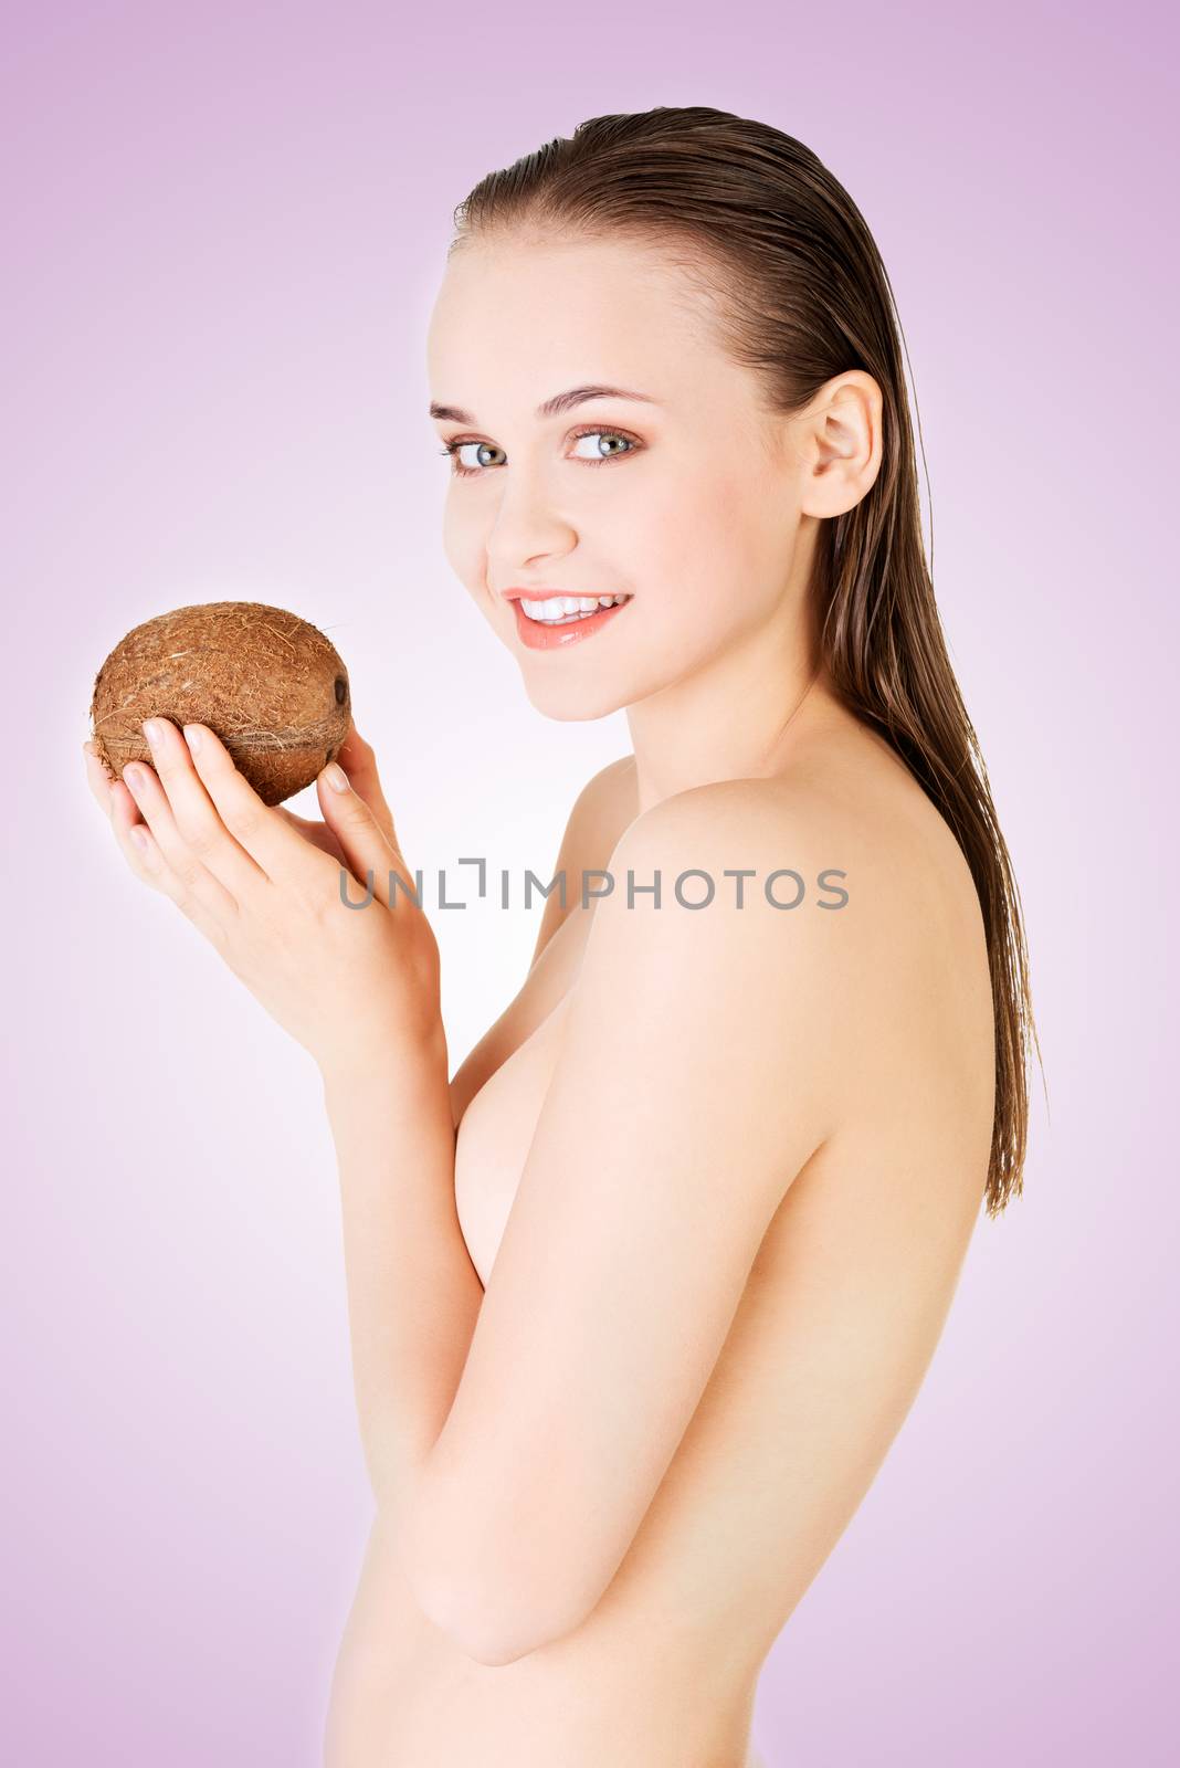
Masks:
[[[355,730],[323,824],[168,720],[134,799],[95,790],[323,1073],[376,1494],[329,1768],[740,1768],[980,1200],[1021,1188],[1019,898],[846,191],[763,124],[655,110],[458,216],[447,557],[537,711],[632,739],[521,992],[449,1080]]]

